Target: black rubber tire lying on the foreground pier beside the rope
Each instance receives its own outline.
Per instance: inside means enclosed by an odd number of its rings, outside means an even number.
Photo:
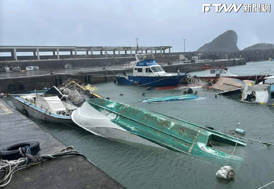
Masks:
[[[12,144],[2,148],[0,150],[0,152],[2,153],[2,159],[18,160],[19,158],[22,158],[23,156],[19,153],[18,149],[23,148],[25,146],[30,147],[31,155],[37,154],[41,150],[39,142],[36,142],[36,141],[19,142],[19,143]]]

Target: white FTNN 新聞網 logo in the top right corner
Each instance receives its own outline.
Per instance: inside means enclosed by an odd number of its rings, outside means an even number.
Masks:
[[[253,6],[252,6],[253,5]],[[215,12],[220,13],[223,9],[225,13],[230,13],[232,9],[234,9],[234,12],[237,13],[241,7],[243,6],[244,12],[270,12],[270,4],[239,4],[237,7],[236,4],[230,4],[228,7],[226,4],[220,4],[220,3],[202,3],[202,12],[210,11],[209,7],[215,7]],[[220,7],[220,8],[219,8]],[[253,8],[251,11],[251,8]]]

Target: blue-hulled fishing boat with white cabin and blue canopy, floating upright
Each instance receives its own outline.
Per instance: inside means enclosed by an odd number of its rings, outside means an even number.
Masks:
[[[166,73],[158,65],[153,54],[136,54],[136,61],[125,64],[124,68],[133,68],[132,73],[121,73],[115,76],[117,83],[127,85],[173,86],[187,83],[188,73]],[[185,80],[184,80],[185,79]]]

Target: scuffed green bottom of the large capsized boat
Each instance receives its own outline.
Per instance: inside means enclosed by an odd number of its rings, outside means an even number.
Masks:
[[[241,157],[227,154],[207,144],[210,141],[216,141],[233,147],[236,144],[246,146],[247,143],[244,140],[237,140],[203,126],[112,100],[94,98],[87,102],[99,112],[109,115],[111,122],[128,132],[170,150],[218,162],[242,161]]]

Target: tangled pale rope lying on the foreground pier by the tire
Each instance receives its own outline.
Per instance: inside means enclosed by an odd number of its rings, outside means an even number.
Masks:
[[[80,155],[85,157],[83,154],[80,154],[77,150],[74,150],[73,146],[67,146],[61,150],[57,150],[47,155],[35,156],[31,155],[29,146],[19,148],[19,153],[23,158],[18,160],[0,160],[0,187],[4,187],[11,181],[12,175],[25,168],[43,163],[50,159],[55,159],[57,156],[64,155]],[[86,158],[86,157],[85,157]]]

